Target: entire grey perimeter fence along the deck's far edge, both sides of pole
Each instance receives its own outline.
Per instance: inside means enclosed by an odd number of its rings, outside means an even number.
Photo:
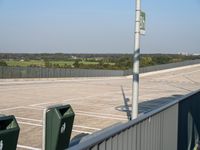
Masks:
[[[200,64],[200,60],[189,60],[140,68],[140,73]],[[0,78],[63,78],[63,77],[108,77],[131,75],[132,70],[100,69],[64,69],[45,67],[3,67],[0,66]]]

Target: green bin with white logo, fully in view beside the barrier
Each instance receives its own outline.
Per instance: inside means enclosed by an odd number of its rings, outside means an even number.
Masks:
[[[43,150],[68,148],[74,112],[70,105],[51,106],[44,112]]]

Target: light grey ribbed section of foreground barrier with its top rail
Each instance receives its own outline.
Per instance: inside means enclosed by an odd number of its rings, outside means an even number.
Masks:
[[[178,103],[100,132],[69,150],[177,150]]]

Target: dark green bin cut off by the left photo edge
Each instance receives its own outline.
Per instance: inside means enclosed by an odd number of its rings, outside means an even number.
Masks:
[[[16,150],[20,128],[13,115],[0,115],[0,150]]]

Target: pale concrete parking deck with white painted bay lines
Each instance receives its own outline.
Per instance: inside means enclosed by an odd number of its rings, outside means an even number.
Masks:
[[[200,64],[142,74],[140,113],[156,109],[200,89]],[[17,150],[42,147],[42,115],[46,106],[70,104],[76,116],[72,139],[91,134],[130,115],[132,78],[1,79],[0,113],[13,114],[20,125]]]

